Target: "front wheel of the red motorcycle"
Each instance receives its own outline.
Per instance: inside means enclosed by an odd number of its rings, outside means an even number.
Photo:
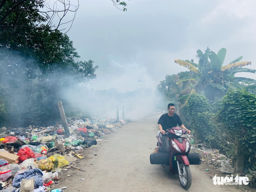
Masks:
[[[192,174],[190,171],[190,168],[188,165],[184,165],[183,163],[180,163],[180,171],[181,174],[179,174],[179,180],[180,184],[184,189],[189,189],[192,183]]]

